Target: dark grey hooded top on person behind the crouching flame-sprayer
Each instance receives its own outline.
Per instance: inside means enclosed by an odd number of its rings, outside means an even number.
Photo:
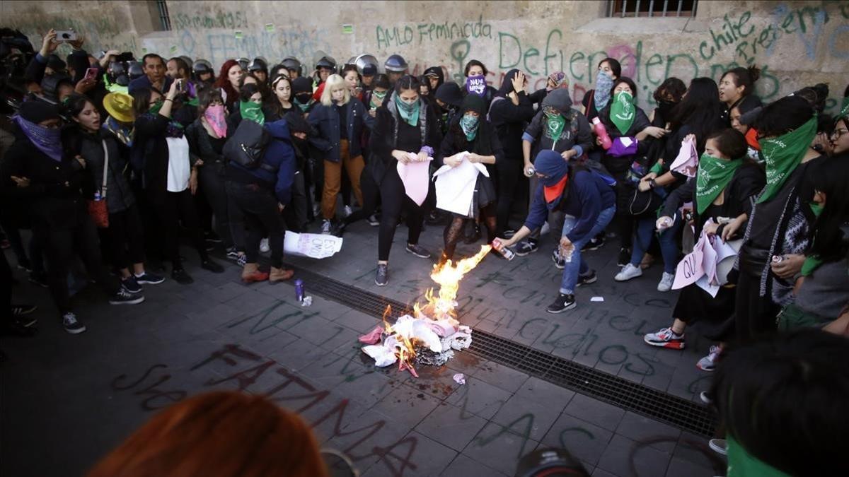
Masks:
[[[560,115],[566,119],[563,132],[556,140],[544,133],[547,121],[543,109],[546,106],[559,110]],[[572,109],[572,98],[569,95],[569,90],[555,89],[543,99],[543,107],[537,111],[537,115],[534,116],[531,124],[522,134],[522,141],[527,141],[533,145],[531,158],[536,157],[539,151],[543,149],[552,149],[558,153],[572,149],[576,153],[573,158],[578,158],[592,149],[593,133],[587,118]]]

